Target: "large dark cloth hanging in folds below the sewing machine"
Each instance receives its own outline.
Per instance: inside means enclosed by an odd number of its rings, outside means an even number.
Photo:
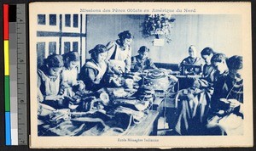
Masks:
[[[200,135],[207,123],[211,95],[198,88],[184,89],[178,95],[180,101],[177,109],[175,130],[180,135]]]

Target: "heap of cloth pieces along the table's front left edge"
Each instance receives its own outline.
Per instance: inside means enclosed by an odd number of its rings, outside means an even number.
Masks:
[[[127,110],[127,109],[126,109]],[[40,122],[40,136],[100,136],[124,135],[131,126],[132,110],[123,112],[103,112],[90,109],[86,112],[70,112],[57,109]],[[137,112],[135,117],[138,119]]]

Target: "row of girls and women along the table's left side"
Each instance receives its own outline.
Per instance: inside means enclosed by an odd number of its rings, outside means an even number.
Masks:
[[[105,87],[104,76],[108,73],[120,75],[130,72],[132,39],[130,31],[123,31],[119,33],[118,40],[108,42],[106,46],[96,45],[89,51],[90,60],[81,67],[80,72],[79,53],[49,55],[44,59],[44,65],[38,68],[38,102],[60,108],[65,104],[64,97],[73,97],[74,90],[96,91]],[[149,51],[146,47],[143,50],[143,53]],[[145,55],[142,60],[150,62]],[[148,64],[148,68],[151,66],[154,68],[152,63]],[[147,65],[143,65],[143,68],[146,69]]]

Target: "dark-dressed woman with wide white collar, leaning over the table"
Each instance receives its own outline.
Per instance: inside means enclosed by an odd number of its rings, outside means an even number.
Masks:
[[[98,44],[89,51],[91,59],[81,69],[79,79],[84,81],[87,90],[96,91],[102,88],[102,78],[108,70],[105,59],[108,55],[107,48]]]

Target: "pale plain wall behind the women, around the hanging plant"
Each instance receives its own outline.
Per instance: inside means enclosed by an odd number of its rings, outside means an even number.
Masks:
[[[150,48],[149,57],[154,62],[177,64],[188,56],[191,44],[201,50],[211,47],[225,53],[228,57],[241,54],[241,16],[239,15],[172,15],[172,42],[164,46],[153,46],[153,39],[143,38],[142,23],[144,15],[87,15],[86,52],[96,44],[107,44],[118,38],[121,31],[129,30],[134,35],[131,44],[132,55],[145,45]],[[90,55],[86,53],[86,58]]]

